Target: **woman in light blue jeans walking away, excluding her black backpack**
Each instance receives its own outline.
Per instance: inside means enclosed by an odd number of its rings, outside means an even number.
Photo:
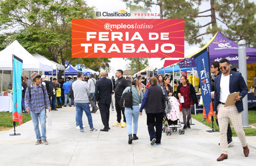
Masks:
[[[133,110],[130,107],[125,107],[124,114],[126,116],[126,129],[128,133],[128,144],[133,143],[133,140],[139,139],[137,137],[138,119],[139,119],[139,104],[142,103],[143,93],[140,88],[139,80],[135,79],[131,83],[131,87],[126,87],[123,93],[128,92],[132,88],[133,95]],[[133,136],[132,136],[132,122],[133,122]]]

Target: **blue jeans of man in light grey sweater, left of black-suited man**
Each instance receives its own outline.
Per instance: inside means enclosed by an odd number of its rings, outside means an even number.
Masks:
[[[84,112],[87,116],[87,119],[88,119],[90,129],[93,129],[94,125],[92,124],[92,117],[91,117],[91,111],[90,111],[89,103],[76,103],[76,102],[74,102],[74,104],[76,106],[76,124],[78,124],[80,129],[84,129],[83,121],[82,121],[83,110],[84,110]]]

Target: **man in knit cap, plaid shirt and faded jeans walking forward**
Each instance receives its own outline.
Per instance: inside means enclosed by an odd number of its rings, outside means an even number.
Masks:
[[[41,144],[42,142],[47,145],[48,142],[46,140],[46,118],[45,118],[45,107],[51,111],[50,101],[48,98],[47,90],[45,85],[40,84],[41,76],[32,72],[32,85],[30,88],[27,88],[25,93],[25,109],[31,115],[32,122],[34,124],[34,131],[37,136],[36,145]],[[30,89],[30,90],[29,90]],[[39,121],[42,129],[42,136],[39,131]]]

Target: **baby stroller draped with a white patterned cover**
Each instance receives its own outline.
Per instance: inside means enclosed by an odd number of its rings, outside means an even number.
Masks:
[[[172,132],[177,132],[179,129],[179,134],[184,134],[185,130],[183,129],[180,122],[180,103],[175,97],[169,96],[170,103],[172,108],[168,114],[165,112],[165,117],[163,118],[162,132],[165,132],[166,135],[171,135]]]

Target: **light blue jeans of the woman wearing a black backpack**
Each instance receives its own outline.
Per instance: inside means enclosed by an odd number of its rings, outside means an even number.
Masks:
[[[124,114],[126,115],[126,129],[127,133],[132,134],[132,121],[133,121],[133,134],[137,134],[138,130],[138,119],[140,115],[140,106],[133,106],[133,110],[131,108],[125,107]]]

